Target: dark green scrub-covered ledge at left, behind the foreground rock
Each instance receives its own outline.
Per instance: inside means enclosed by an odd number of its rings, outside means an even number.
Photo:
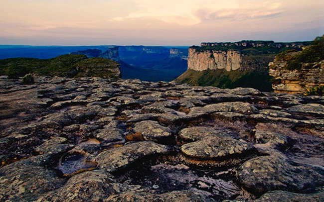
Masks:
[[[103,58],[88,59],[85,55],[61,55],[52,59],[10,58],[0,60],[0,75],[7,75],[11,79],[17,79],[26,74],[52,77],[81,77],[84,75],[115,78],[113,72],[107,71],[107,69],[115,69],[116,74],[116,68],[119,68],[119,63],[115,61]]]

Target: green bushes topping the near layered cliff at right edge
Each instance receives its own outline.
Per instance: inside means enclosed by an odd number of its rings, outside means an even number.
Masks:
[[[288,50],[278,54],[277,59],[286,61],[289,70],[301,69],[303,63],[324,60],[324,35],[317,37],[312,45],[307,46],[303,51]]]

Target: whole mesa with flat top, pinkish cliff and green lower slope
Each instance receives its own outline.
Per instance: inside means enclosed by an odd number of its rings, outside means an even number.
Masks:
[[[201,43],[189,48],[188,69],[174,81],[219,88],[250,87],[272,91],[269,63],[285,50],[312,42],[240,41]]]

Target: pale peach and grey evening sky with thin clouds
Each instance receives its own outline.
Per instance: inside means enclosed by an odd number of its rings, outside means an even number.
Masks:
[[[323,34],[324,0],[0,0],[0,44],[190,46]]]

